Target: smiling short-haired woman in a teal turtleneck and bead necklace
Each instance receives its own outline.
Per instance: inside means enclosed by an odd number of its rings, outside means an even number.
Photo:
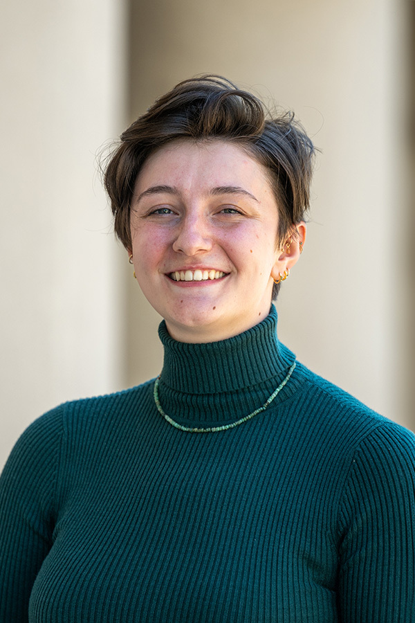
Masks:
[[[312,158],[291,116],[215,77],[122,134],[105,185],[163,370],[17,443],[1,622],[415,620],[414,435],[277,339]]]

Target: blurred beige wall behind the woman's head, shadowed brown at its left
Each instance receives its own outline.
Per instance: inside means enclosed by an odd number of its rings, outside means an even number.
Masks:
[[[407,4],[133,0],[130,116],[203,72],[297,112],[322,154],[304,255],[277,303],[279,335],[315,372],[414,427],[403,381],[411,276],[399,190]],[[160,370],[157,323],[131,280],[129,383]]]

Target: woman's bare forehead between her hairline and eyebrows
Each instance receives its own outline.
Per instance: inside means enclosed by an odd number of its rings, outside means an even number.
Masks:
[[[135,194],[148,186],[183,189],[240,186],[252,192],[272,192],[268,171],[241,145],[221,139],[178,139],[158,147],[142,165]],[[253,193],[255,194],[255,193]]]

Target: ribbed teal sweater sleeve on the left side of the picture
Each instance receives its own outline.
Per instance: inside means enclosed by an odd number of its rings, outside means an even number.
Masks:
[[[31,424],[0,478],[0,623],[26,623],[33,582],[52,543],[60,409]]]

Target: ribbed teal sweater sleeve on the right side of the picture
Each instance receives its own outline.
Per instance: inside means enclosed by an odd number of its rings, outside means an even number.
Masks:
[[[392,422],[353,458],[340,509],[342,623],[415,621],[415,437]]]

